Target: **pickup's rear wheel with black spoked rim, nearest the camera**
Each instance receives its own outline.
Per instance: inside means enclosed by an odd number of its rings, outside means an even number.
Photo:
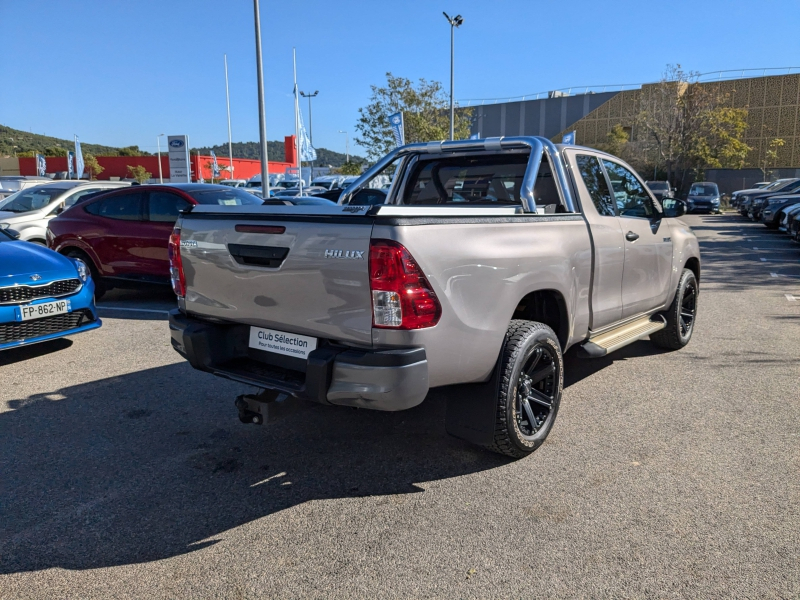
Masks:
[[[564,387],[561,344],[550,327],[514,320],[500,353],[494,441],[489,450],[522,458],[553,428]]]

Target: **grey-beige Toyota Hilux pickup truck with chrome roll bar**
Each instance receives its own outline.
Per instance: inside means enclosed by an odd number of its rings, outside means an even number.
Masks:
[[[393,172],[380,206],[350,199]],[[170,240],[173,347],[289,398],[404,410],[447,396],[446,427],[512,457],[552,429],[563,353],[643,337],[679,349],[700,251],[623,161],[537,137],[396,149],[330,206],[193,207]]]

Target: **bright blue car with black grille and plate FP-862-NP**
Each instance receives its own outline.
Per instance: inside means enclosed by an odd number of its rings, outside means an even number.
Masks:
[[[97,329],[94,283],[80,260],[0,229],[0,350]]]

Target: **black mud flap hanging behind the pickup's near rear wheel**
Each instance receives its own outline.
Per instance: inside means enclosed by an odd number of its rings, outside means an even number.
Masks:
[[[500,361],[485,383],[465,383],[441,389],[447,398],[445,427],[453,437],[485,446],[494,442]]]

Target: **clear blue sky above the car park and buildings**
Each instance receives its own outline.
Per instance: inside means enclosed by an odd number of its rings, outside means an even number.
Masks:
[[[300,89],[319,90],[318,147],[344,151],[338,131],[352,140],[387,71],[447,85],[443,10],[464,17],[456,99],[653,81],[667,63],[800,66],[797,0],[261,0],[268,138],[293,133],[293,46]],[[0,124],[150,151],[159,133],[223,143],[227,53],[233,140],[258,139],[252,0],[0,0],[0,24]]]

